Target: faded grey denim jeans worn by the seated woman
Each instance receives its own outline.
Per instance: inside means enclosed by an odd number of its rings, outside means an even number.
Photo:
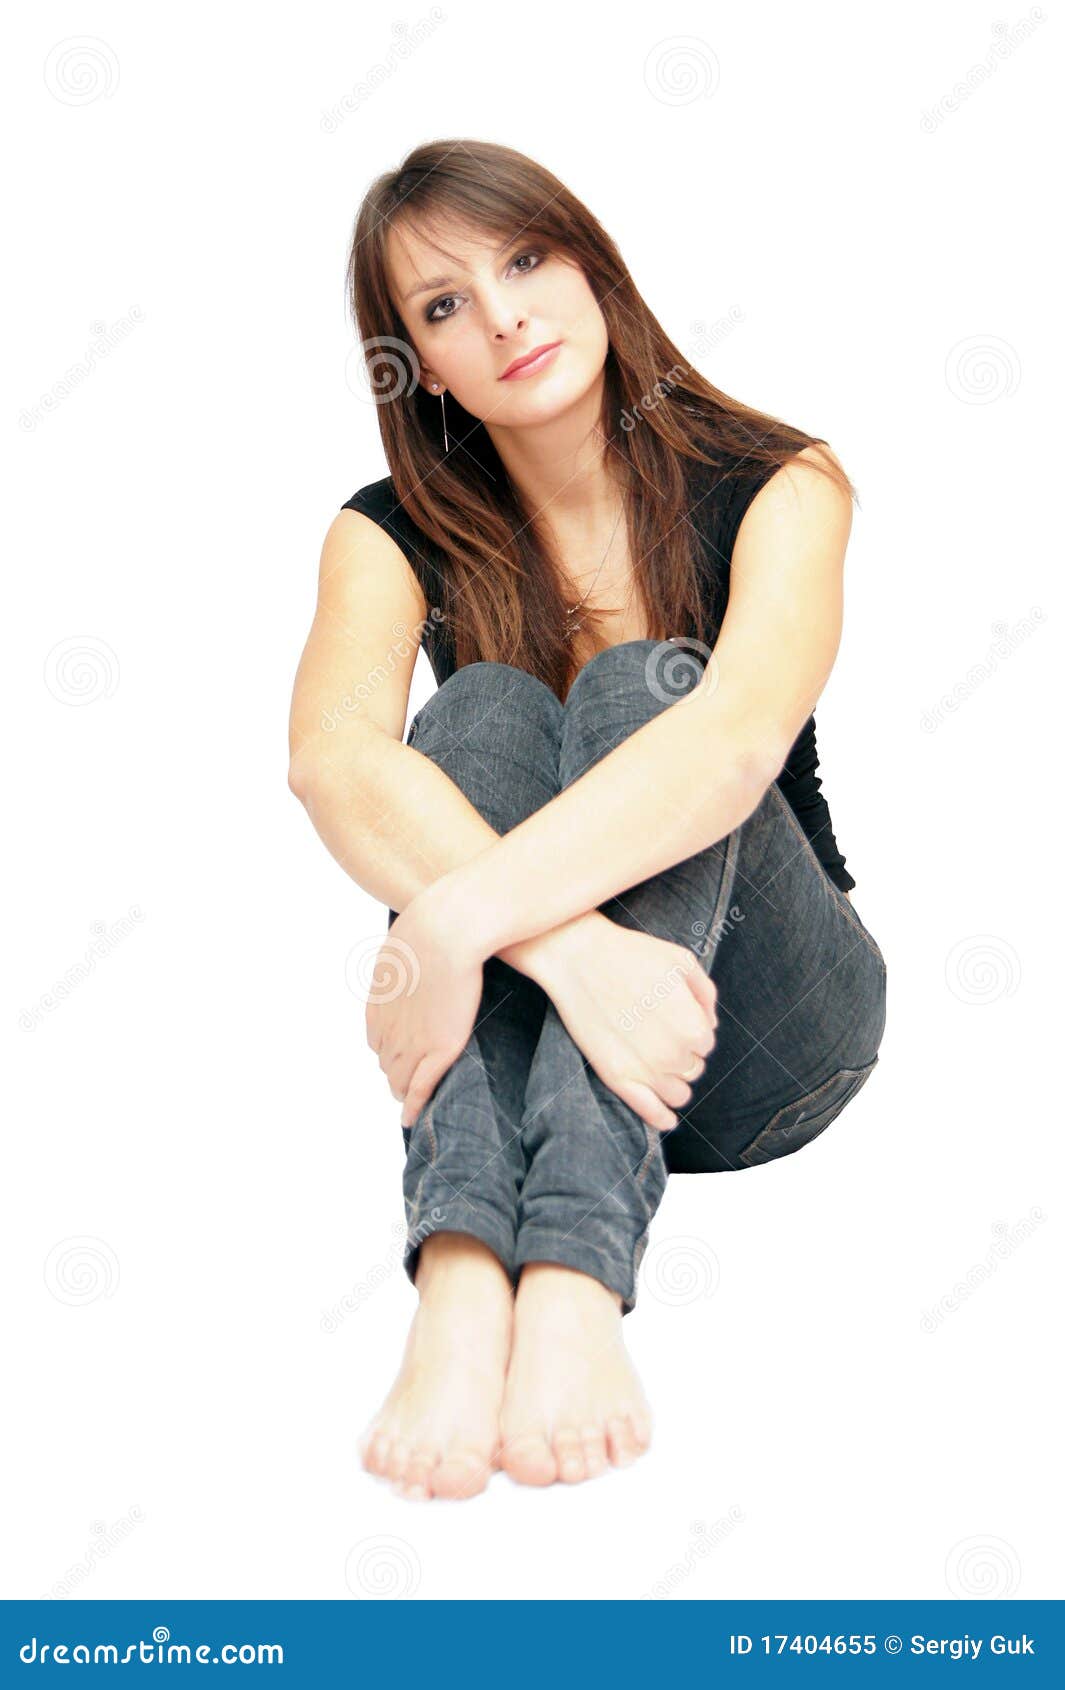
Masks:
[[[524,669],[472,662],[418,711],[407,744],[507,833],[700,676],[681,647],[627,641],[597,652],[563,705]],[[632,825],[654,826],[653,793]],[[465,1232],[514,1283],[527,1261],[563,1262],[617,1291],[629,1313],[668,1175],[801,1149],[876,1066],[884,958],[776,782],[727,838],[598,908],[686,945],[717,985],[717,1043],[690,1104],[671,1132],[646,1126],[541,987],[490,957],[467,1048],[402,1129],[411,1279],[431,1232]]]

